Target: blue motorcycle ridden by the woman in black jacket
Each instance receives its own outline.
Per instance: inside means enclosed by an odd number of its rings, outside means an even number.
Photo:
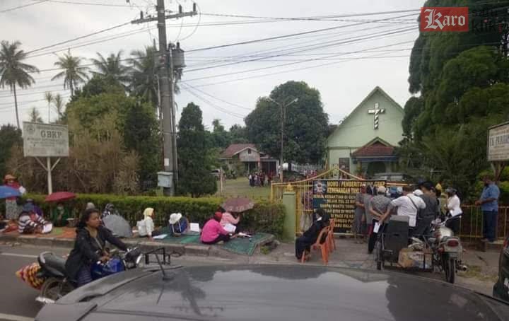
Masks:
[[[93,264],[91,274],[94,281],[126,269],[135,269],[143,257],[139,247],[133,247],[127,252],[111,252],[110,255],[111,259],[104,264],[102,262]],[[66,260],[63,257],[52,252],[42,252],[37,261],[40,265],[37,278],[45,280],[40,288],[40,295],[35,299],[37,302],[55,303],[76,288],[76,284],[66,277]]]

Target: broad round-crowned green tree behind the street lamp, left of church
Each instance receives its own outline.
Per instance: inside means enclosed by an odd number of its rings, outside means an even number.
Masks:
[[[286,107],[283,160],[319,163],[324,156],[328,132],[328,116],[323,110],[320,92],[304,81],[288,81],[262,97],[245,118],[247,137],[260,150],[276,157],[281,154],[281,113],[278,103],[297,98]]]

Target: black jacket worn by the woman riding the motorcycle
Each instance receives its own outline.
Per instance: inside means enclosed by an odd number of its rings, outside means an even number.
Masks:
[[[90,236],[90,233],[88,233],[86,228],[78,228],[76,230],[74,248],[71,250],[71,254],[69,254],[65,266],[66,274],[69,279],[73,281],[76,280],[78,271],[84,264],[90,265],[99,261],[100,257],[103,256],[101,247],[105,247],[106,241],[115,245],[120,250],[127,250],[127,246],[121,240],[115,238],[110,230],[103,228],[103,226],[98,228],[97,240],[101,245],[100,247],[92,236]]]

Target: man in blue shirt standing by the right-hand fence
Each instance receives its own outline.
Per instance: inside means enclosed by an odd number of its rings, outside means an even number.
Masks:
[[[483,242],[495,242],[496,225],[498,216],[498,197],[500,189],[493,182],[494,177],[491,174],[484,175],[484,189],[481,198],[476,201],[476,205],[481,205],[483,211]]]

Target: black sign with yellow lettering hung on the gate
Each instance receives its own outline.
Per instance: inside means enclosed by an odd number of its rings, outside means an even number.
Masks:
[[[334,218],[334,233],[351,230],[355,216],[355,198],[363,185],[385,186],[385,180],[313,180],[313,209],[324,209]]]

